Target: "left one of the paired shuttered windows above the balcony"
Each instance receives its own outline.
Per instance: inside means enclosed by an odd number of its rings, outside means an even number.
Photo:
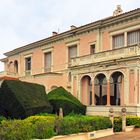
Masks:
[[[124,34],[113,36],[113,48],[120,48],[124,46]]]

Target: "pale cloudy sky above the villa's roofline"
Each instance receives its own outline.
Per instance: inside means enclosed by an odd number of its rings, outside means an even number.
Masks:
[[[70,29],[140,8],[140,0],[0,0],[0,59],[3,53]],[[0,71],[3,71],[0,62]]]

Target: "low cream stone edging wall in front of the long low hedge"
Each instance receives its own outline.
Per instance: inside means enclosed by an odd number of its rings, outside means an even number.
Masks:
[[[105,137],[109,135],[113,135],[113,129],[104,129],[104,130],[98,130],[88,133],[78,133],[78,134],[71,134],[71,135],[64,135],[64,136],[55,136],[50,139],[44,139],[44,140],[93,140],[100,137]],[[39,140],[39,139],[34,139]]]

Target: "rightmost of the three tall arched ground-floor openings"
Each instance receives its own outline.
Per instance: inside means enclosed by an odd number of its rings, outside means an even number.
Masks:
[[[120,105],[121,95],[123,94],[123,74],[121,72],[114,72],[110,77],[110,104]]]

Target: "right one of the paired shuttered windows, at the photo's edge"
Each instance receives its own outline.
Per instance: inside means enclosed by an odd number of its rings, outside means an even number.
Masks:
[[[127,33],[127,45],[133,45],[140,42],[140,30]]]

